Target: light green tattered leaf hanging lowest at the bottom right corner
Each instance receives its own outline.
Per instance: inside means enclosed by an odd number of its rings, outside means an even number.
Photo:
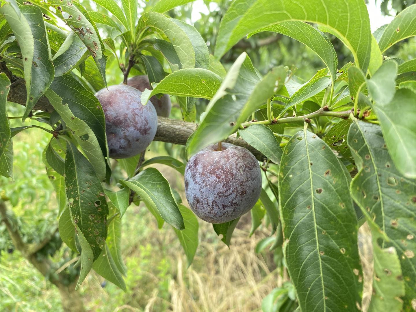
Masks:
[[[371,227],[373,243],[374,277],[373,294],[368,308],[369,312],[402,311],[404,282],[399,257],[394,247],[380,248],[378,239],[383,239],[379,227]]]

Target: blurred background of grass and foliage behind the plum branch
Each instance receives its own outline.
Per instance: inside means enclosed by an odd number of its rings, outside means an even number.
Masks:
[[[370,0],[374,1],[374,0]],[[193,24],[206,40],[212,54],[222,16],[229,0],[197,1],[207,10],[196,13],[196,4],[187,4],[169,11],[171,17]],[[414,1],[376,1],[384,15],[396,15]],[[147,6],[146,6],[147,3]],[[139,10],[149,10],[156,0],[139,1]],[[92,1],[82,1],[87,10],[108,14]],[[198,9],[198,11],[201,11]],[[108,37],[104,25],[101,32]],[[329,39],[338,54],[342,67],[352,61],[351,53],[332,35]],[[407,60],[416,58],[416,40],[408,39],[395,45],[389,55]],[[262,73],[283,64],[303,80],[309,80],[323,66],[309,48],[283,35],[263,32],[238,42],[224,55],[227,69],[241,52],[247,52],[255,67]],[[109,85],[122,82],[116,59],[110,55],[106,70]],[[135,72],[132,72],[134,75]],[[171,118],[181,118],[180,108],[173,101]],[[205,100],[198,101],[199,114]],[[21,116],[24,107],[10,103],[9,116]],[[31,120],[31,124],[41,125]],[[27,123],[26,123],[27,124]],[[11,119],[11,126],[21,126],[20,119]],[[58,270],[66,270],[68,280],[77,275],[73,254],[57,233],[57,202],[52,184],[42,163],[42,153],[51,138],[40,129],[17,134],[14,141],[15,180],[0,177],[0,196],[8,198],[13,225],[19,228],[25,243],[49,240],[38,255],[51,258]],[[183,146],[153,142],[147,158],[171,155],[183,161]],[[117,167],[113,160],[114,168]],[[185,199],[183,177],[166,166],[156,166]],[[125,173],[116,169],[122,177]],[[114,182],[114,181],[113,181]],[[91,311],[279,311],[270,302],[283,302],[288,311],[294,306],[295,295],[285,272],[280,270],[282,251],[268,251],[270,229],[260,225],[249,237],[250,214],[241,218],[233,234],[231,246],[224,245],[212,226],[200,222],[200,243],[193,264],[187,261],[175,233],[168,227],[158,229],[156,220],[143,206],[132,205],[121,219],[123,223],[123,256],[128,272],[127,292],[92,274],[78,290],[87,310]],[[271,242],[270,242],[271,243]],[[276,300],[279,299],[279,300]],[[262,306],[263,302],[263,306]],[[5,226],[0,223],[0,311],[61,311],[58,290],[15,252]]]

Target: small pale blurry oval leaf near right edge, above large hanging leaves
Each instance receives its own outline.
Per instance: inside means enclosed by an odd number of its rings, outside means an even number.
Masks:
[[[371,79],[367,80],[368,92],[374,102],[380,105],[389,103],[396,92],[396,62],[384,62],[374,73]]]

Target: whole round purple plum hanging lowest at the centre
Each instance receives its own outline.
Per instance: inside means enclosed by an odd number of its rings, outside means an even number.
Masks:
[[[262,186],[257,159],[248,149],[229,143],[210,145],[193,155],[185,168],[185,194],[202,220],[224,223],[248,212]]]

